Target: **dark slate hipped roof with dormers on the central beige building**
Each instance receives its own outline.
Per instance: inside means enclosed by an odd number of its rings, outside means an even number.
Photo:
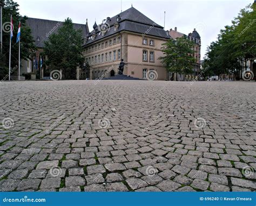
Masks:
[[[118,21],[117,16],[120,18]],[[119,24],[119,28],[117,31],[114,31],[114,24],[117,23]],[[107,26],[107,29],[105,35],[103,36],[101,30],[104,25]],[[134,7],[131,7],[130,9],[127,9],[114,17],[107,19],[105,24],[101,23],[97,26],[97,28],[93,29],[93,31],[91,31],[87,37],[88,39],[85,46],[124,30],[166,39],[171,38],[169,33],[164,30],[163,26],[158,25],[150,18],[146,17],[143,13],[139,12]],[[93,34],[97,35],[95,39],[92,38]]]

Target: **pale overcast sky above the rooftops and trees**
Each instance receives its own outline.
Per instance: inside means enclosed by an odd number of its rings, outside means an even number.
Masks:
[[[106,17],[116,16],[121,11],[121,0],[14,0],[18,2],[21,15],[33,18],[63,21],[70,17],[73,23],[85,24],[89,28],[95,22],[102,22]],[[201,36],[201,59],[207,45],[216,40],[220,29],[230,25],[240,9],[254,0],[122,0],[122,10],[134,8],[164,26],[165,30],[177,26],[179,32],[186,35],[197,29]]]

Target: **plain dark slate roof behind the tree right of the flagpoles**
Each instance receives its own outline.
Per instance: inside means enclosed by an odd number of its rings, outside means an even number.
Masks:
[[[28,18],[26,24],[30,26],[33,39],[35,40],[35,45],[37,47],[44,47],[44,42],[48,40],[50,31],[53,33],[58,31],[58,28],[62,26],[62,22],[57,22],[55,20],[46,20],[38,18]],[[75,29],[82,29],[83,36],[87,36],[86,24],[75,24],[73,23]]]

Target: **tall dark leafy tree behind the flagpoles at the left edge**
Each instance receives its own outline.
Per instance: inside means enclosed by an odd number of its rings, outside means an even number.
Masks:
[[[21,59],[28,59],[35,52],[35,45],[33,44],[33,37],[29,26],[26,25],[26,16],[22,17],[19,14],[18,4],[12,0],[3,2],[3,53],[1,55],[2,63],[0,65],[1,77],[8,74],[9,67],[9,47],[10,47],[10,16],[12,15],[14,23],[14,36],[11,39],[11,67],[18,65],[18,43],[16,44],[16,37],[18,32],[18,24],[21,21]],[[6,73],[7,71],[7,73]],[[17,71],[15,71],[17,72]]]

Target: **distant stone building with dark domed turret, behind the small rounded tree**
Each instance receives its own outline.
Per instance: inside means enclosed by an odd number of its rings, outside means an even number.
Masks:
[[[199,33],[197,32],[196,29],[192,31],[192,33],[188,33],[188,35],[185,35],[184,33],[181,33],[177,31],[177,27],[174,28],[174,30],[170,29],[169,35],[173,38],[180,38],[180,37],[187,37],[191,41],[194,42],[194,58],[196,59],[196,64],[194,64],[193,67],[193,73],[192,74],[186,74],[186,77],[184,77],[183,74],[178,74],[178,81],[184,81],[184,80],[191,80],[198,75],[200,72],[200,67],[201,67],[201,37]],[[173,79],[176,80],[176,73],[169,73],[168,79]]]

